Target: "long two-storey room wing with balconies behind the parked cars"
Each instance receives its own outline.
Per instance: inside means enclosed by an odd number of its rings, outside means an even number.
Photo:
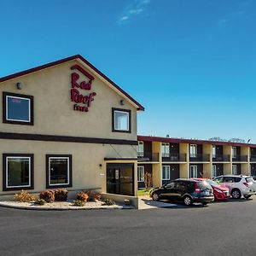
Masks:
[[[137,155],[139,189],[147,172],[153,187],[178,177],[256,177],[256,144],[138,136]]]

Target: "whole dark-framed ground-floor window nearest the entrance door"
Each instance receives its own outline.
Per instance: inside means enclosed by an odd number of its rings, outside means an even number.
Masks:
[[[72,155],[46,155],[47,188],[72,186]]]

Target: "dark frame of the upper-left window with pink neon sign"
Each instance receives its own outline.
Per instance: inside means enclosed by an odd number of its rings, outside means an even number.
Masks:
[[[8,98],[29,100],[29,121],[8,119]],[[3,123],[13,125],[34,125],[34,97],[3,91]]]

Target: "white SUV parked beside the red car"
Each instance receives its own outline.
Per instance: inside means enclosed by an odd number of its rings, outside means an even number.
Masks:
[[[250,176],[221,175],[215,177],[213,181],[228,187],[232,198],[240,199],[243,196],[245,199],[249,199],[252,195],[256,194],[251,179],[252,177]]]

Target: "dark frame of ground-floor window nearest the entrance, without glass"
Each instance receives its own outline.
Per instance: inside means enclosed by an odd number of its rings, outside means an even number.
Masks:
[[[68,159],[67,180],[68,183],[50,184],[50,159]],[[72,187],[72,154],[46,154],[46,188],[70,188]]]

